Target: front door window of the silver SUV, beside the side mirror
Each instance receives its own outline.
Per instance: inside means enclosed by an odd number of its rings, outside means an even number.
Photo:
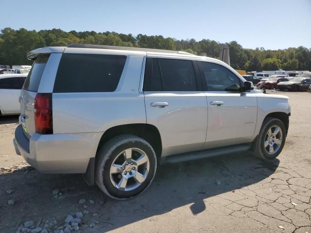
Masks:
[[[198,62],[205,91],[239,91],[241,80],[226,67],[209,62]]]

